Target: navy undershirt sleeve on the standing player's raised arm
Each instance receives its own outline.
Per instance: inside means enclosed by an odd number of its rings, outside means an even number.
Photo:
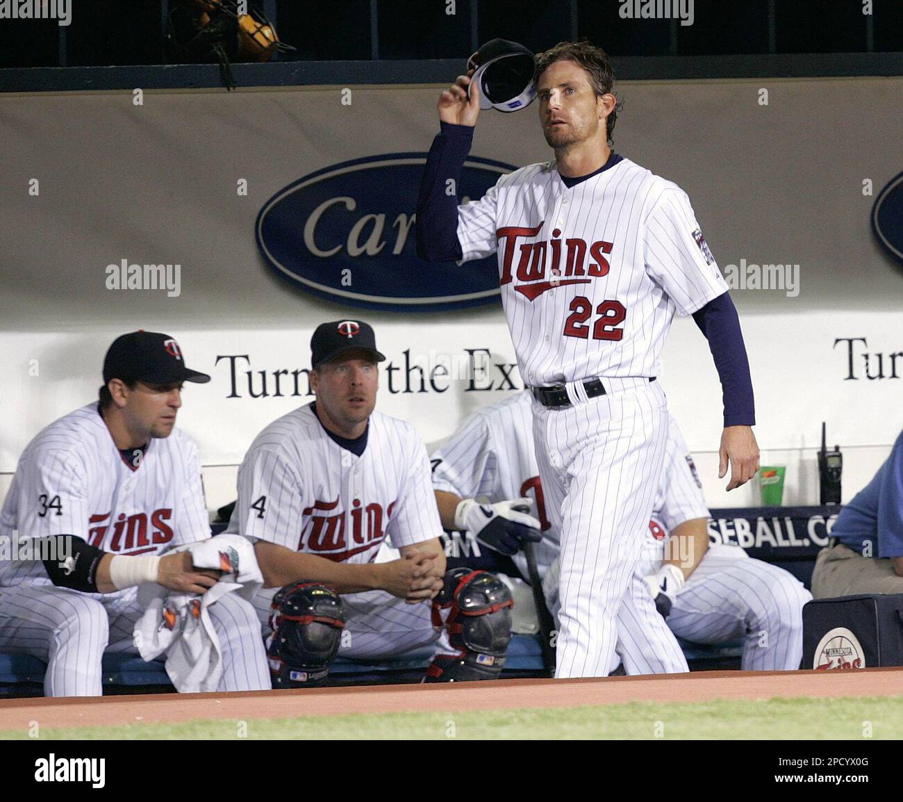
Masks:
[[[426,157],[424,176],[417,195],[417,256],[427,262],[458,261],[463,256],[458,241],[458,193],[446,194],[446,182],[461,186],[461,169],[470,153],[473,126],[440,123]]]

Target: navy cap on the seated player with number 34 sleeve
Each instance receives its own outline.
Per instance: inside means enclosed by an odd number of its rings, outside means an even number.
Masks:
[[[131,331],[113,340],[104,358],[104,383],[118,378],[131,384],[173,384],[210,380],[206,373],[185,367],[182,349],[169,334],[159,331]]]

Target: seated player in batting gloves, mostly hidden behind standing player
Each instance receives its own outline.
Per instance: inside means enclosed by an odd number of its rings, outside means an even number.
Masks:
[[[528,391],[480,408],[433,454],[433,488],[450,529],[508,555],[528,581],[518,551],[529,521],[512,506],[534,503],[543,540],[536,562],[550,610],[558,603],[558,536],[548,521],[533,446]],[[478,504],[474,499],[489,499]],[[739,546],[709,546],[702,483],[674,418],[665,473],[647,543],[621,602],[618,655],[628,674],[686,671],[675,635],[697,643],[745,639],[744,669],[790,669],[802,657],[802,608],[811,599],[796,578],[750,559]],[[499,526],[503,519],[513,521]],[[493,534],[504,528],[506,537]],[[484,533],[489,533],[489,537]],[[484,567],[486,567],[484,565]],[[610,667],[614,668],[614,666]]]

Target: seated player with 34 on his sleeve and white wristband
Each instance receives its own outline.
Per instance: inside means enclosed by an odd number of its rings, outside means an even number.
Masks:
[[[0,536],[35,558],[0,563],[0,649],[45,660],[48,696],[99,696],[104,652],[137,654],[137,585],[203,593],[217,582],[186,552],[161,556],[210,536],[197,446],[175,428],[186,381],[209,376],[185,367],[172,337],[124,334],[107,351],[99,403],[50,424],[19,460]],[[228,593],[208,610],[219,689],[269,688],[250,602]]]

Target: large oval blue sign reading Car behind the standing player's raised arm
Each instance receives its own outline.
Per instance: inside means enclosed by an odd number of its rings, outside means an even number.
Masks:
[[[426,154],[354,159],[305,175],[266,201],[257,247],[306,292],[368,309],[423,312],[498,303],[496,256],[457,266],[417,256],[414,210]],[[517,168],[470,156],[461,198]]]

